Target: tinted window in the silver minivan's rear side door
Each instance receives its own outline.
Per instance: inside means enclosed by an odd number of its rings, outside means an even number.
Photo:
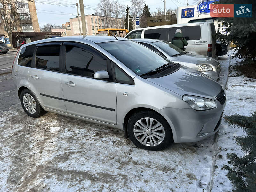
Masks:
[[[36,50],[36,67],[59,71],[60,46],[39,46]]]

